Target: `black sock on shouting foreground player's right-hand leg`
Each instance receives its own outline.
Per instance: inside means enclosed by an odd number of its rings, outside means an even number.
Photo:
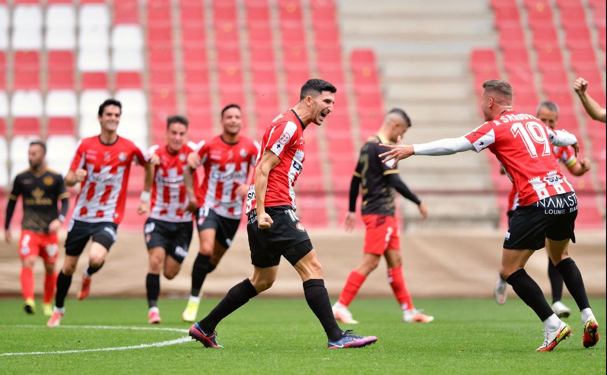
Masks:
[[[339,340],[342,336],[342,330],[333,316],[325,281],[314,278],[304,281],[304,294],[308,306],[320,321],[322,328],[327,332],[327,338],[329,340]]]

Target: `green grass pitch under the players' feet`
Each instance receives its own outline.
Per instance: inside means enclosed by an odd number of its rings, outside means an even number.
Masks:
[[[571,299],[564,302],[575,305]],[[154,327],[188,329],[190,325],[181,322],[185,303],[161,299],[163,322]],[[215,298],[203,299],[200,317],[215,303]],[[256,298],[217,327],[224,349],[205,349],[188,340],[122,351],[0,356],[0,373],[605,374],[605,339],[595,348],[583,348],[577,311],[566,320],[571,337],[550,353],[536,353],[543,326],[516,298],[504,306],[489,299],[417,300],[416,304],[435,321],[402,323],[392,299],[354,300],[350,309],[361,323],[342,328],[378,337],[375,345],[362,349],[327,349],[324,332],[304,298]],[[591,305],[599,325],[605,327],[605,298],[592,298]],[[143,298],[69,299],[66,307],[64,326],[149,327]],[[0,317],[0,353],[135,346],[186,335],[127,328],[47,328],[46,317],[39,312],[25,315],[17,299],[0,300]]]

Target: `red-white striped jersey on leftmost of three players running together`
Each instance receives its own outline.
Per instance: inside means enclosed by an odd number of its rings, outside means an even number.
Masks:
[[[143,165],[148,157],[126,138],[118,137],[111,145],[101,143],[99,136],[81,139],[70,170],[82,168],[87,174],[80,185],[72,218],[120,224],[133,160]]]

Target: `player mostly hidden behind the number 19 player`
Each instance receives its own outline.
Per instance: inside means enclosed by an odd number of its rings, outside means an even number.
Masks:
[[[536,116],[541,122],[554,130],[558,121],[558,106],[555,103],[552,103],[552,101],[544,101],[537,107]],[[557,162],[562,162],[574,176],[582,176],[590,170],[590,160],[588,160],[588,158],[578,160],[577,157],[575,157],[575,150],[571,146],[552,146],[552,153],[554,153]],[[508,196],[508,218],[512,217],[517,206],[517,189],[512,185],[512,190]],[[569,317],[571,309],[561,302],[561,298],[563,298],[563,277],[561,277],[561,274],[558,272],[550,258],[548,258],[548,278],[550,279],[552,287],[552,311],[554,311],[559,318]],[[504,280],[501,275],[498,275],[498,278],[495,281],[495,287],[493,288],[493,296],[498,304],[506,303],[508,294],[507,287],[508,283],[506,283],[506,280]]]

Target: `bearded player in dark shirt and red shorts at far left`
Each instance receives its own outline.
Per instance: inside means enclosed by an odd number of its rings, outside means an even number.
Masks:
[[[69,193],[61,174],[46,166],[46,145],[32,142],[29,148],[29,170],[15,177],[13,190],[8,196],[4,233],[7,243],[12,242],[10,219],[13,217],[19,195],[23,197],[23,219],[21,221],[21,239],[19,239],[19,257],[21,258],[21,292],[25,300],[24,309],[29,314],[36,311],[34,302],[33,267],[36,256],[44,261],[44,294],[42,295],[42,314],[53,314],[50,303],[55,294],[57,274],[55,263],[58,256],[59,240],[57,230],[66,220],[67,198]],[[61,200],[61,212],[57,212],[57,201]]]

